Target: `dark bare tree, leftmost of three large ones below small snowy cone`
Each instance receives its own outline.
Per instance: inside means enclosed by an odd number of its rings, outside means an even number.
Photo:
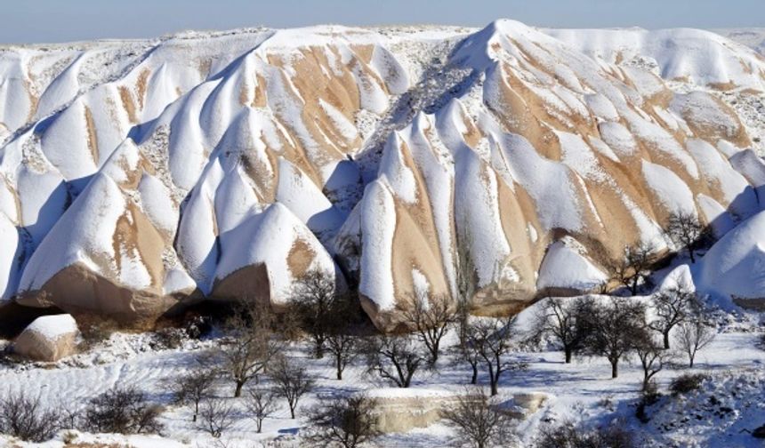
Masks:
[[[535,338],[552,336],[560,343],[566,364],[571,363],[571,356],[584,346],[584,341],[591,332],[588,324],[591,320],[592,301],[583,299],[545,299],[536,309],[534,316]]]

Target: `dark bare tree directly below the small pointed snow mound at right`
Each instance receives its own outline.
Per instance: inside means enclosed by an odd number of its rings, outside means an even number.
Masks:
[[[651,296],[656,319],[650,322],[650,327],[662,334],[664,348],[670,348],[670,332],[675,325],[682,323],[688,317],[696,315],[701,309],[701,301],[696,292],[687,284],[679,284],[672,288],[656,292]]]

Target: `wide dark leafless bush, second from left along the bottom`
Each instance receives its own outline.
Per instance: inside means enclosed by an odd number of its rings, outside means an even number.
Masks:
[[[149,404],[138,389],[111,388],[96,396],[85,408],[85,428],[92,432],[119,434],[158,433],[162,409]]]

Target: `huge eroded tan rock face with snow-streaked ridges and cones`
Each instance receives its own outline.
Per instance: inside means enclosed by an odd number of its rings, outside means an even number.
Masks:
[[[2,299],[144,320],[278,306],[319,269],[390,330],[417,292],[506,313],[592,290],[624,244],[662,249],[672,212],[722,236],[761,210],[753,51],[694,30],[421,31],[0,53]]]

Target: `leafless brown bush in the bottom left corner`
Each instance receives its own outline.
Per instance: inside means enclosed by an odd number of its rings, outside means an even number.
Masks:
[[[0,433],[28,442],[44,442],[60,428],[58,413],[46,410],[39,397],[14,393],[0,400]]]

